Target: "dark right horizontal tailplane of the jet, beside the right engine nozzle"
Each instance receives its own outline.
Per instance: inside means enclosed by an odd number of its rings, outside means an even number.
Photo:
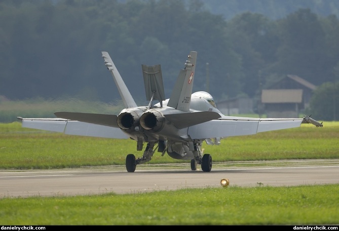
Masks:
[[[214,111],[197,111],[188,113],[165,114],[166,120],[170,121],[176,128],[182,129],[207,121],[215,120],[221,115]]]

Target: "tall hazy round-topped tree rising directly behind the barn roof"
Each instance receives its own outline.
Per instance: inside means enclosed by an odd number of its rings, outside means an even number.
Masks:
[[[325,54],[325,32],[316,14],[300,9],[280,20],[281,44],[272,72],[296,74],[312,84],[323,83],[328,66]]]

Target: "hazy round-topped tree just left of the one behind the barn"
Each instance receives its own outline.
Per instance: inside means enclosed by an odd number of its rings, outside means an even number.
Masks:
[[[262,84],[266,66],[275,60],[279,45],[275,30],[275,24],[265,16],[249,12],[234,17],[227,28],[233,49],[241,57],[241,90],[250,97]]]

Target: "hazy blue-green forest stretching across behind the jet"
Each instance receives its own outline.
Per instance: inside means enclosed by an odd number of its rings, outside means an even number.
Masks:
[[[339,80],[335,15],[300,8],[281,19],[245,12],[225,20],[205,9],[200,0],[2,1],[0,95],[120,98],[101,51],[136,99],[145,99],[141,64],[161,64],[169,97],[190,51],[198,52],[194,91],[215,101],[257,97],[286,74],[317,86]]]

